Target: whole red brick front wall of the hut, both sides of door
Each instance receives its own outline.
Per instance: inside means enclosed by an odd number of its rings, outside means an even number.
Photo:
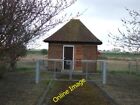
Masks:
[[[63,44],[49,44],[48,59],[63,59]],[[96,45],[74,45],[74,60],[79,60],[74,63],[75,70],[86,70],[86,64],[80,60],[97,60],[97,46]],[[61,70],[62,62],[56,63],[56,68],[53,67],[53,62],[49,62],[50,69]],[[97,63],[88,64],[88,72],[96,72]]]

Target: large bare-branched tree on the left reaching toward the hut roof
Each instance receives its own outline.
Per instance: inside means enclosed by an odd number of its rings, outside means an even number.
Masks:
[[[75,1],[0,0],[0,59],[10,58],[11,50],[16,53],[30,40],[62,23],[68,15],[59,14]],[[16,57],[19,56],[18,52]]]

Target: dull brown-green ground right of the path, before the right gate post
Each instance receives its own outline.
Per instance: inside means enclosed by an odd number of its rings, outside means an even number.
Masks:
[[[101,86],[119,105],[140,104],[140,77],[128,74],[109,74],[106,86]]]

